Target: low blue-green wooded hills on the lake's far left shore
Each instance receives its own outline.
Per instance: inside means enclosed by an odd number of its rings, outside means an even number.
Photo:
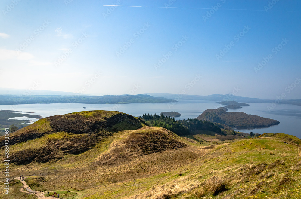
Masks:
[[[0,95],[0,105],[8,104],[50,104],[50,103],[81,103],[81,104],[127,104],[127,103],[166,103],[178,102],[163,97],[150,95],[104,95],[104,96],[61,96],[61,95]]]

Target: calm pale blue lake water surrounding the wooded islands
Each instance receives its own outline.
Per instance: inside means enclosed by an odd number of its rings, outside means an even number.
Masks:
[[[266,103],[248,103],[250,106],[243,106],[242,109],[229,109],[228,112],[244,112],[280,121],[280,124],[262,129],[239,129],[240,132],[250,133],[287,133],[301,138],[301,106],[277,105],[269,111]],[[87,107],[84,109],[83,107]],[[41,115],[42,118],[61,115],[78,111],[89,110],[115,110],[133,116],[144,113],[160,114],[163,111],[176,111],[181,113],[178,119],[196,118],[206,109],[221,107],[214,101],[179,100],[178,103],[155,103],[155,104],[22,104],[22,105],[0,105],[0,109],[15,110],[23,112],[34,112],[34,115]],[[32,121],[33,118],[25,118]]]

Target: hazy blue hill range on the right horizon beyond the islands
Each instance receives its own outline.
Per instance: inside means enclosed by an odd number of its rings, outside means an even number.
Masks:
[[[249,103],[278,103],[278,99],[259,99],[251,97],[240,97],[240,96],[229,96],[229,95],[220,95],[213,94],[208,96],[202,95],[178,95],[178,94],[169,94],[169,93],[146,93],[154,97],[165,97],[175,100],[208,100],[208,101],[237,101],[237,102],[249,102]],[[280,104],[293,104],[301,106],[301,99],[283,99],[279,102]]]

